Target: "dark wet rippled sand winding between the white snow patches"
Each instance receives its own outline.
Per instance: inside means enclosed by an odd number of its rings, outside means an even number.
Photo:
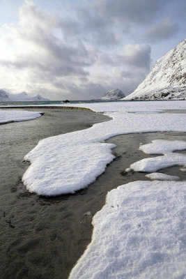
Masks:
[[[32,109],[33,110],[33,109]],[[125,168],[142,158],[139,144],[151,140],[185,140],[186,133],[145,133],[121,135],[107,142],[117,145],[117,158],[95,183],[75,195],[38,197],[30,194],[21,179],[28,163],[24,155],[38,140],[52,135],[82,130],[107,121],[101,114],[81,111],[42,110],[33,121],[0,126],[0,266],[2,279],[68,278],[77,259],[91,241],[92,216],[102,208],[107,192],[121,184],[148,180],[144,173],[124,174]],[[166,174],[186,174],[179,167],[164,169]]]

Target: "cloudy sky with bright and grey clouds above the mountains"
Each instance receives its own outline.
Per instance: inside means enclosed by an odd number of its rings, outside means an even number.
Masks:
[[[185,0],[0,0],[0,89],[51,100],[132,93],[186,36]]]

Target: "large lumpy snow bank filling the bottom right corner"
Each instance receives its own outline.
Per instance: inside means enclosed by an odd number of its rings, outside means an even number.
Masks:
[[[136,181],[111,190],[69,279],[185,278],[185,186]]]

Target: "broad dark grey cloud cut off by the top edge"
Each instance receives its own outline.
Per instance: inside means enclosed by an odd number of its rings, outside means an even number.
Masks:
[[[61,20],[66,38],[111,47],[123,40],[132,27],[153,22],[168,0],[95,0],[77,10],[77,20]]]

